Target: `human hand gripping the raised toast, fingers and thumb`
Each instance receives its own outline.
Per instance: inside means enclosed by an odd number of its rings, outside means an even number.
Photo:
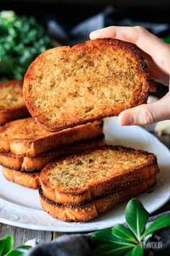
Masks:
[[[148,62],[149,78],[169,85],[170,45],[144,27],[105,27],[92,32],[90,38],[116,38],[134,43]],[[151,124],[165,119],[170,119],[170,93],[154,103],[122,111],[118,116],[121,125]]]

